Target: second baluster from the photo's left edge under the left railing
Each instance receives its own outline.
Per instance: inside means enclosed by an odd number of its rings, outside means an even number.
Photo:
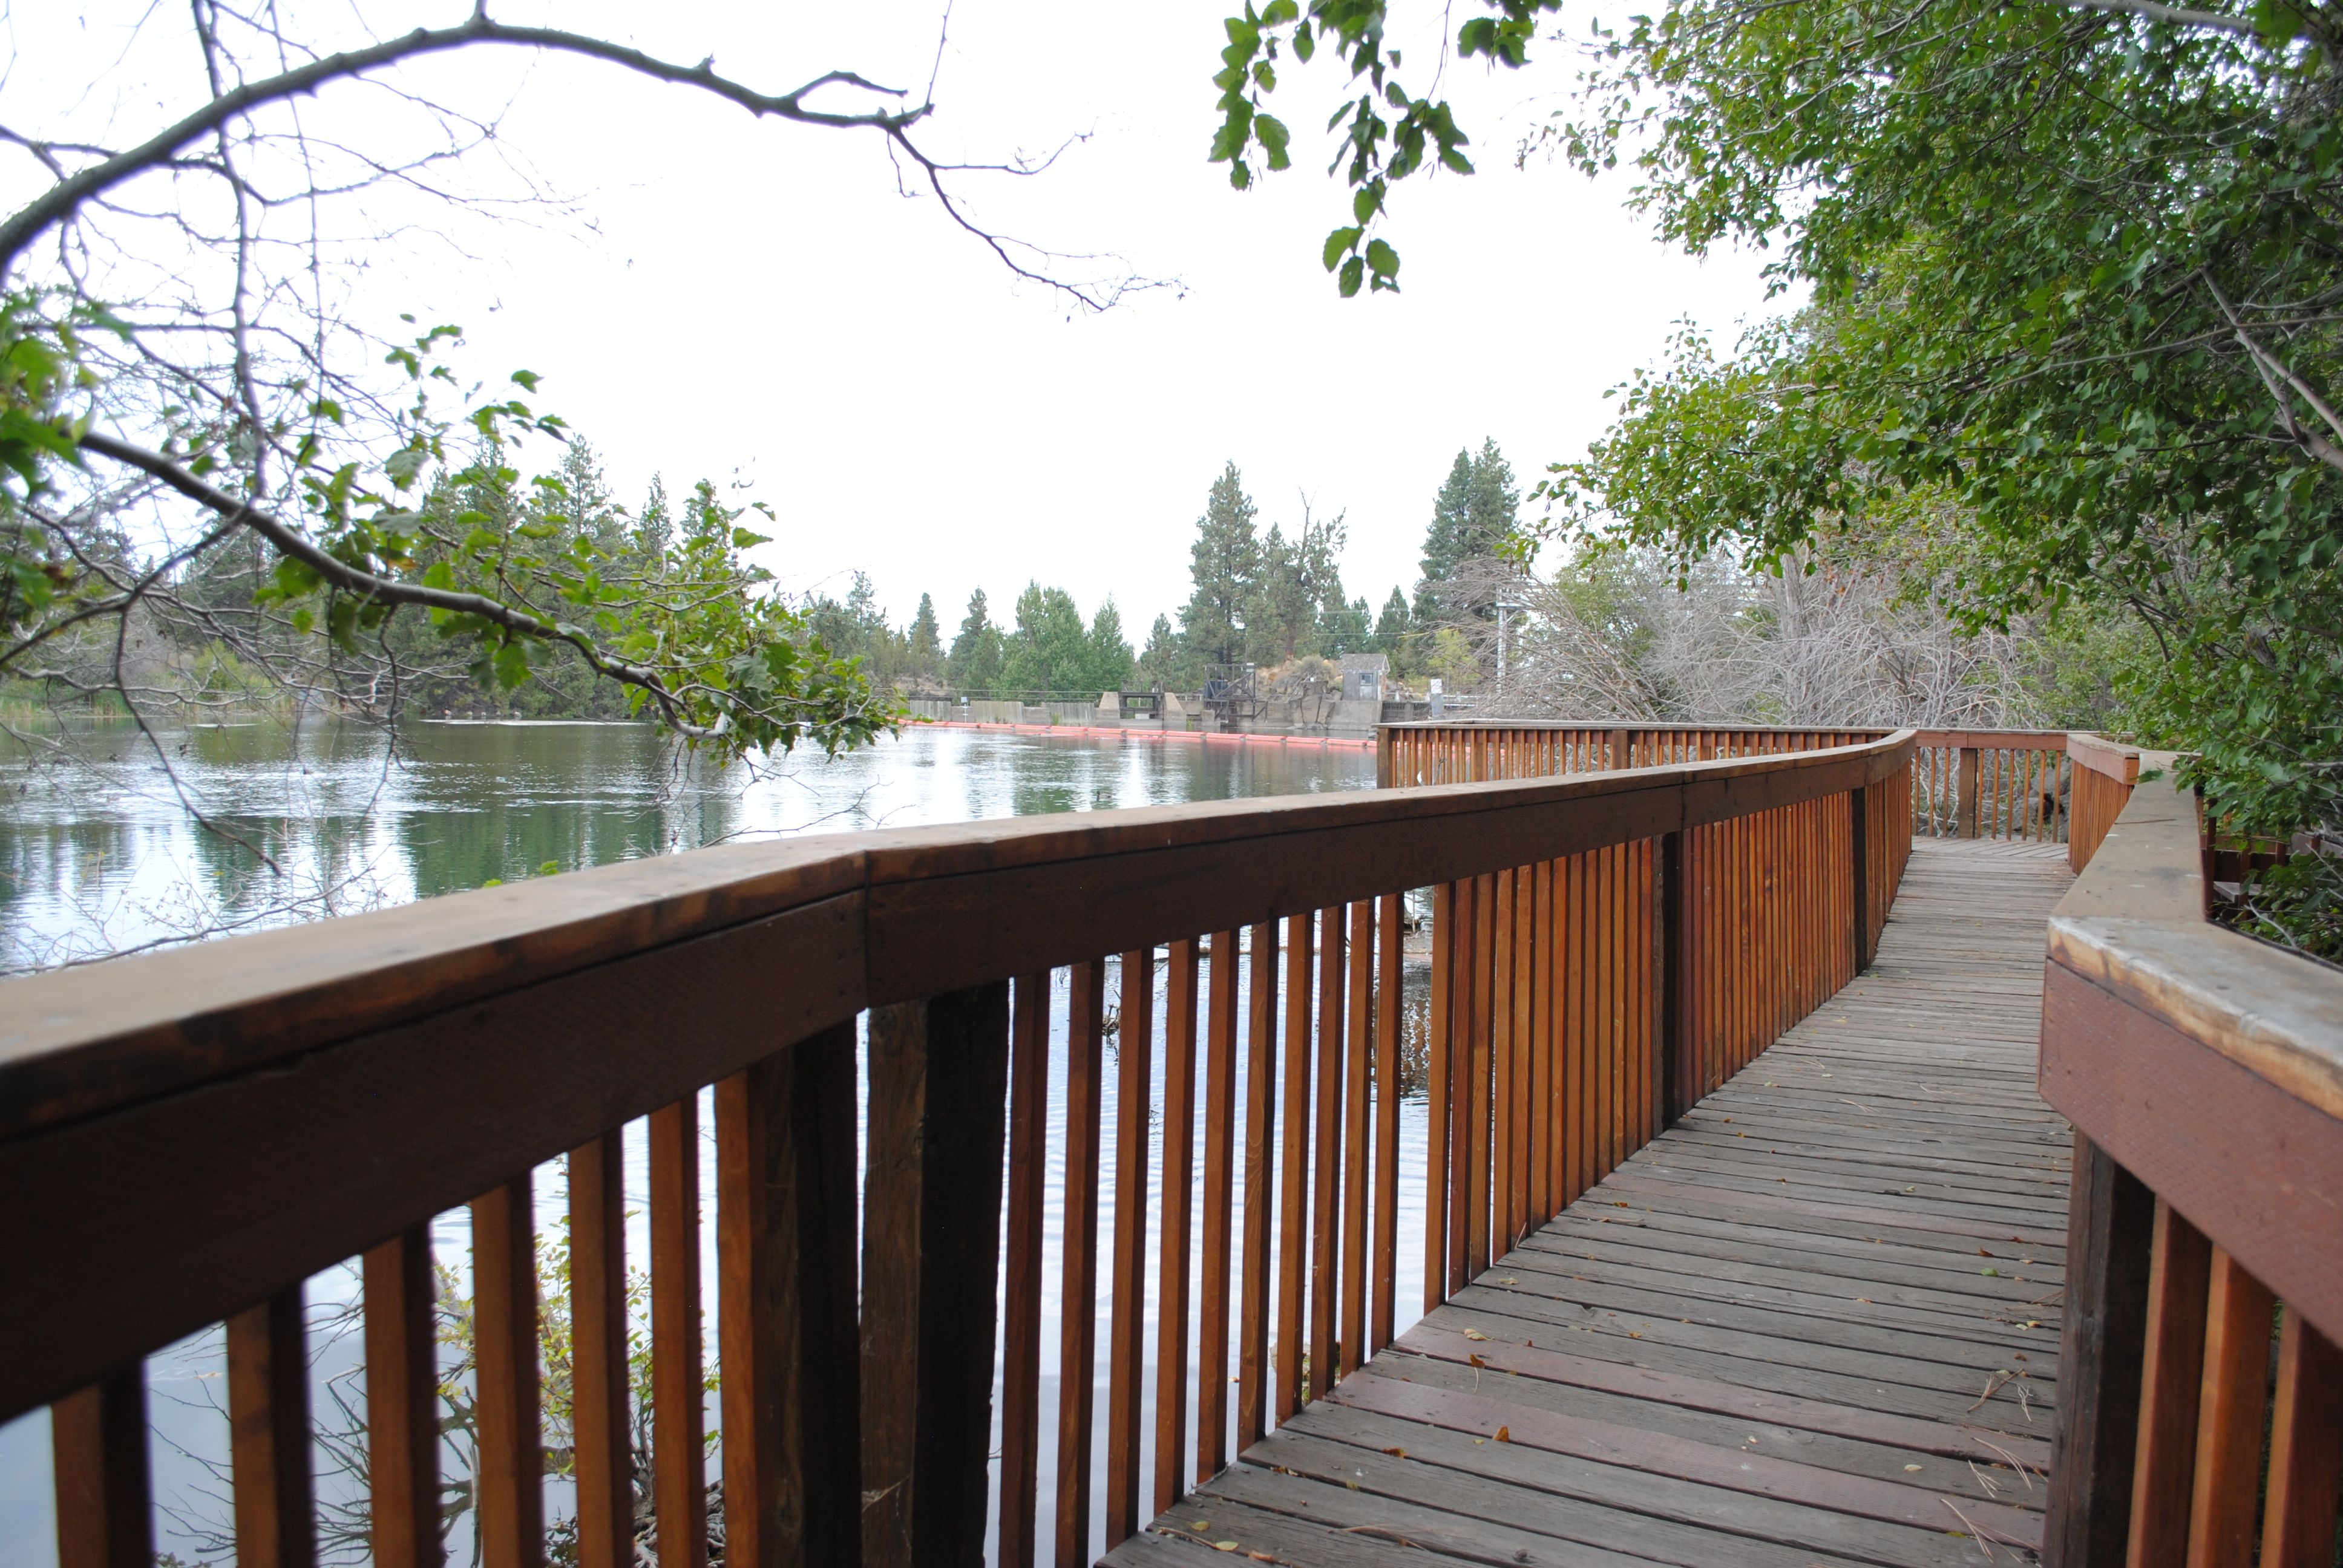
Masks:
[[[309,1568],[309,1336],[298,1284],[227,1320],[227,1441],[239,1568]]]

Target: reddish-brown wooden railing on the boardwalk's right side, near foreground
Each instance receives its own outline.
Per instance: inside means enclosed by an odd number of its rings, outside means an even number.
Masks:
[[[2041,1036],[2041,1092],[2076,1127],[2045,1561],[2331,1568],[2343,975],[2207,919],[2170,755],[2069,755],[2083,865]]]

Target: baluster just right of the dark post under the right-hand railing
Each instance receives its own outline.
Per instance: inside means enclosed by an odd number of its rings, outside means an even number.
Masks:
[[[2081,1139],[2081,1134],[2076,1137]],[[2097,1160],[2104,1158],[2097,1155]],[[2137,1186],[2137,1179],[2132,1184]],[[2130,1554],[2125,1561],[2132,1568],[2177,1568],[2188,1556],[2188,1507],[2191,1486],[2195,1484],[2198,1402],[2205,1378],[2205,1291],[2212,1280],[2212,1242],[2163,1198],[2153,1200],[2153,1214],[2144,1352],[2132,1357],[2132,1366],[2139,1371],[2102,1366],[2099,1388],[2092,1390],[2085,1383],[2085,1397],[2109,1404],[2130,1395],[2137,1409],[2132,1420],[2137,1420],[2139,1437],[2134,1439],[2127,1481],[2132,1507]],[[2090,1268],[2090,1261],[2085,1261],[2085,1268]],[[2102,1355],[2113,1355],[2113,1348]],[[2076,1366],[2076,1373],[2090,1378],[2090,1366]],[[2116,1376],[2111,1378],[2109,1373]],[[2127,1411],[2109,1413],[2120,1418]],[[2109,1488],[2120,1484],[2118,1477],[2102,1479],[2102,1486]],[[2069,1491],[2076,1493],[2078,1507],[2088,1505],[2081,1495],[2085,1491],[2083,1477],[2074,1477]]]

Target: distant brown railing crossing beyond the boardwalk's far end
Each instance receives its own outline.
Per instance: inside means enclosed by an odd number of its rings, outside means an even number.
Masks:
[[[1385,724],[1382,783],[1537,778],[1649,766],[1692,757],[1769,757],[1844,745],[1877,729],[1610,727],[1481,720]],[[2088,741],[2088,736],[2081,736]],[[1924,839],[2038,839],[2062,844],[2081,809],[2064,729],[1921,729],[1912,755],[1912,832]]]

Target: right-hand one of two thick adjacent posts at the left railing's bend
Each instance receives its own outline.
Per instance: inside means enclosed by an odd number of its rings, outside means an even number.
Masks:
[[[1010,987],[872,1010],[862,1561],[984,1552]]]

